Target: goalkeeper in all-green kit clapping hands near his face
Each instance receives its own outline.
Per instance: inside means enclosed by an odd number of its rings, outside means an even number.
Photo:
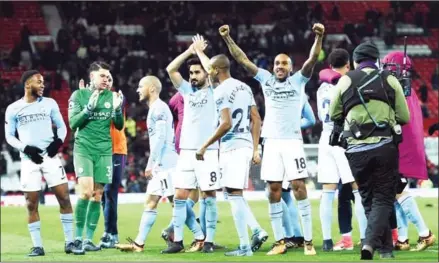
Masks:
[[[73,92],[69,100],[69,124],[75,135],[73,162],[78,178],[79,198],[76,204],[76,240],[73,252],[97,251],[92,239],[101,213],[104,185],[113,176],[110,125],[124,125],[122,94],[109,91],[110,66],[104,62],[90,65],[90,86]],[[82,241],[86,228],[86,239]]]

